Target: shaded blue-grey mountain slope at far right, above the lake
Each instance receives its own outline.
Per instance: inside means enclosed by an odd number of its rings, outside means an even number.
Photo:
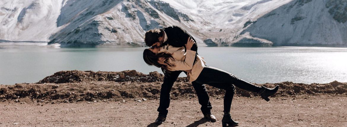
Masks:
[[[252,21],[241,34],[273,46],[347,47],[346,0],[295,0]]]

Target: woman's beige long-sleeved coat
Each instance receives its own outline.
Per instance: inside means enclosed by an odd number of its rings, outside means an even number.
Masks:
[[[200,75],[202,69],[205,67],[204,58],[196,55],[195,59],[195,51],[186,50],[184,47],[173,47],[170,45],[163,46],[160,48],[159,52],[170,53],[174,60],[168,60],[168,62],[175,65],[175,67],[169,67],[170,71],[176,70],[191,70],[188,71],[189,81],[195,81],[197,77]],[[195,60],[195,64],[193,65]]]

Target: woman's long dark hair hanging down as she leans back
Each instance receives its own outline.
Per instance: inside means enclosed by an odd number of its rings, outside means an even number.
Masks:
[[[164,57],[164,62],[168,65],[159,64],[158,60],[160,57]],[[145,49],[143,51],[143,60],[146,62],[146,64],[149,66],[161,68],[165,76],[169,76],[169,74],[171,73],[168,67],[175,67],[174,64],[167,62],[169,59],[174,60],[174,58],[169,53],[160,52],[158,53],[158,55],[155,55],[155,53],[149,49]]]

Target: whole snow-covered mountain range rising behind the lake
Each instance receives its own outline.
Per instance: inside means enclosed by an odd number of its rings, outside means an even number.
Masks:
[[[191,33],[198,45],[281,46],[300,39],[303,40],[300,43],[307,43],[308,32],[299,33],[299,27],[320,30],[321,34],[312,35],[320,36],[324,42],[310,43],[324,45],[337,40],[331,41],[330,35],[321,36],[328,33],[325,31],[346,35],[346,21],[336,15],[346,16],[346,6],[331,1],[344,3],[343,0],[1,0],[0,42],[45,41],[60,43],[62,47],[144,46],[145,31],[177,25]],[[312,19],[312,15],[325,16],[325,20],[315,22],[317,18]],[[339,28],[327,25],[331,21]],[[285,27],[278,27],[283,23]],[[319,26],[314,23],[322,23],[324,27],[314,28]],[[347,47],[343,44],[346,38],[340,40],[338,46]]]

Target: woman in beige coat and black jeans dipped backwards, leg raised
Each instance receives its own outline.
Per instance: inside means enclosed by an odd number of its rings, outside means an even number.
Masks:
[[[266,101],[269,101],[268,97],[278,91],[279,86],[273,89],[264,86],[259,87],[239,79],[229,72],[206,66],[203,57],[196,55],[196,52],[191,50],[193,44],[193,39],[188,38],[186,48],[167,45],[160,48],[145,49],[143,59],[147,65],[160,67],[165,76],[170,75],[170,71],[185,70],[191,82],[207,84],[226,90],[222,119],[223,127],[226,127],[227,124],[235,126],[239,123],[232,120],[230,115],[231,102],[235,91],[234,85],[244,90],[257,92]]]

